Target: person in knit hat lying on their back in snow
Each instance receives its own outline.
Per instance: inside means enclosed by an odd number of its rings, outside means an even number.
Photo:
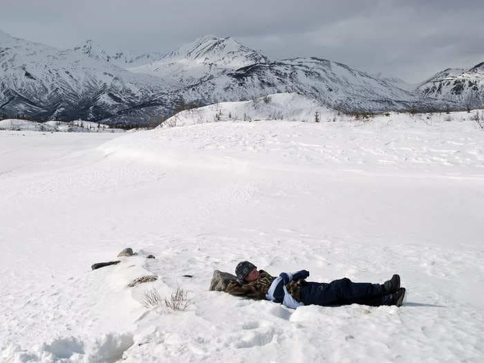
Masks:
[[[268,299],[288,308],[304,305],[340,306],[362,304],[370,306],[402,306],[405,289],[400,288],[400,276],[379,283],[355,283],[344,278],[330,283],[305,281],[309,272],[282,272],[272,277],[257,270],[249,261],[242,261],[235,269],[237,281],[231,281],[226,292],[235,296]]]

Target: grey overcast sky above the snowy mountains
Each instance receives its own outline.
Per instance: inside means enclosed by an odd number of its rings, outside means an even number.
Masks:
[[[484,62],[483,19],[483,0],[0,0],[0,30],[57,48],[90,38],[167,53],[230,36],[271,59],[313,55],[411,83]]]

